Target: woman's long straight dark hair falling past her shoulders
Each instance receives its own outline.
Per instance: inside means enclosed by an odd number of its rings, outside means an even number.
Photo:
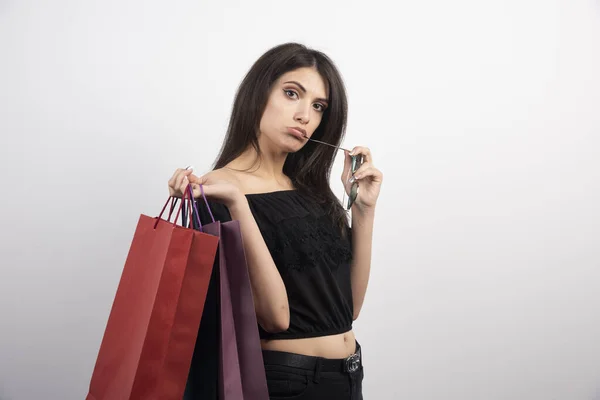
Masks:
[[[257,133],[273,84],[286,72],[315,68],[329,88],[329,106],[313,138],[338,146],[346,131],[348,100],[342,77],[333,61],[320,51],[298,43],[271,48],[252,65],[238,88],[229,120],[227,135],[214,169],[222,168],[252,145],[261,155]],[[296,153],[288,154],[283,172],[294,187],[328,206],[329,213],[342,231],[348,216],[329,185],[331,168],[338,150],[308,142]]]

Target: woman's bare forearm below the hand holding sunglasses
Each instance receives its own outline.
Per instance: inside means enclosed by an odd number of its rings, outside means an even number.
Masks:
[[[375,210],[360,210],[356,206],[352,210],[352,248],[353,261],[351,267],[353,319],[358,318],[362,308],[369,275],[371,272],[371,248],[373,243],[373,222]]]

